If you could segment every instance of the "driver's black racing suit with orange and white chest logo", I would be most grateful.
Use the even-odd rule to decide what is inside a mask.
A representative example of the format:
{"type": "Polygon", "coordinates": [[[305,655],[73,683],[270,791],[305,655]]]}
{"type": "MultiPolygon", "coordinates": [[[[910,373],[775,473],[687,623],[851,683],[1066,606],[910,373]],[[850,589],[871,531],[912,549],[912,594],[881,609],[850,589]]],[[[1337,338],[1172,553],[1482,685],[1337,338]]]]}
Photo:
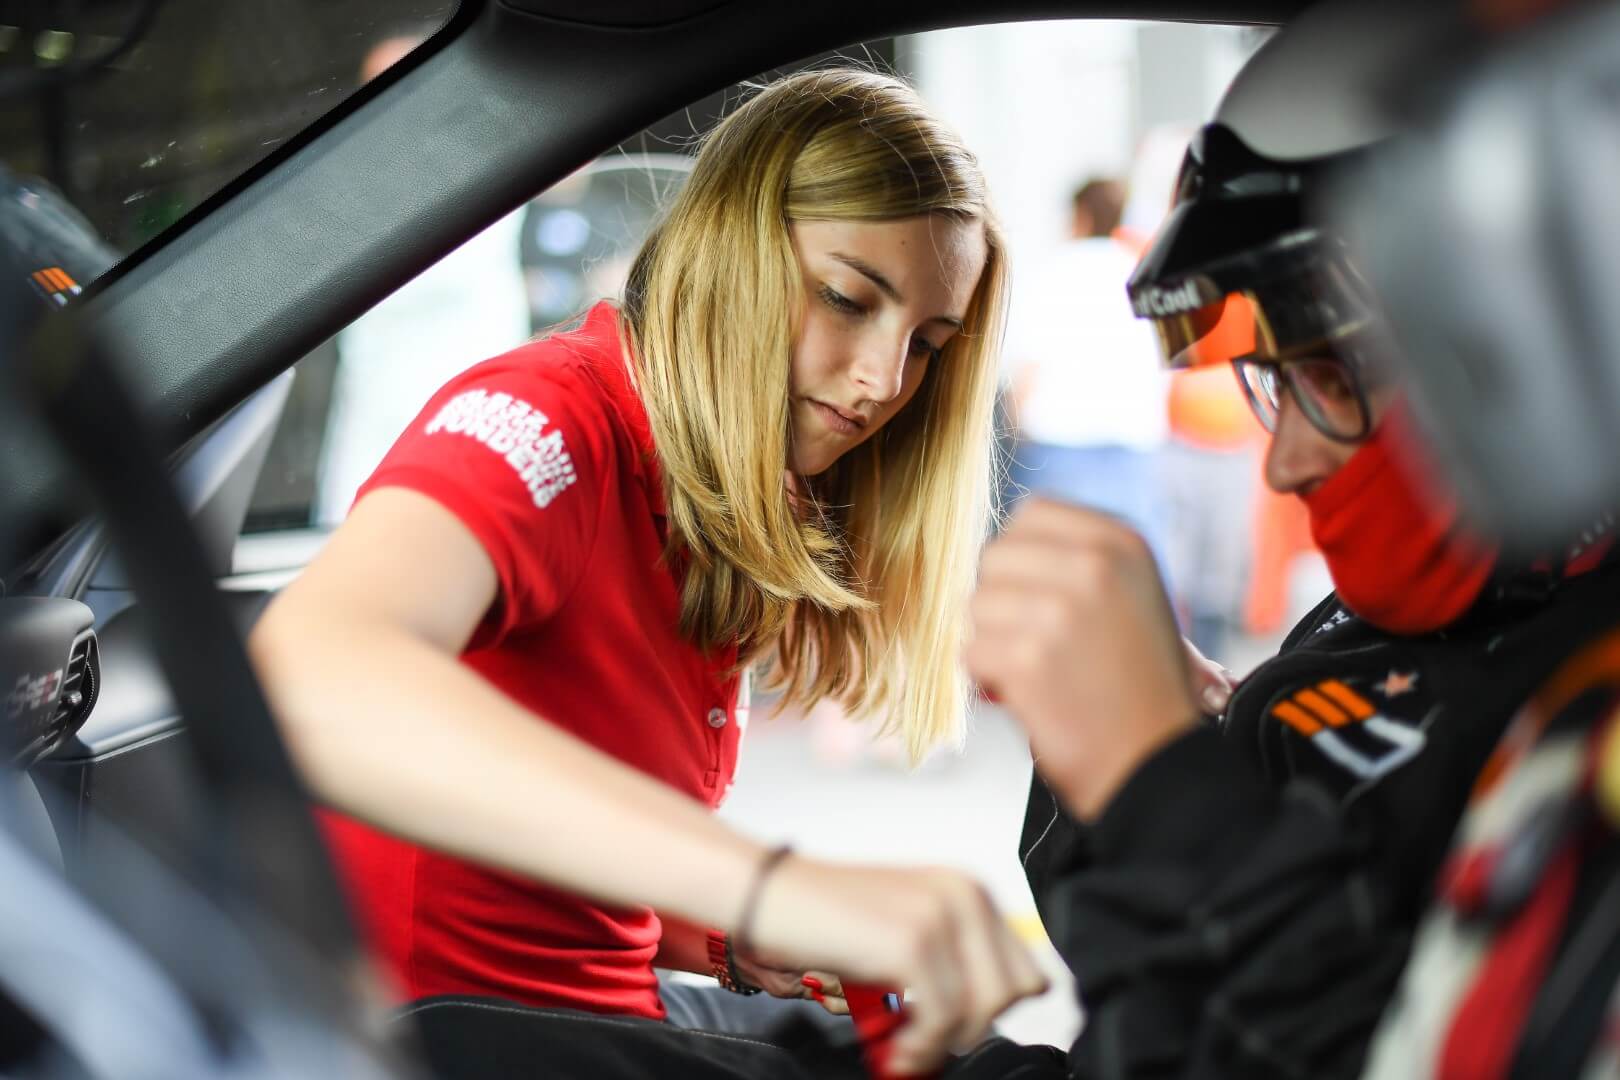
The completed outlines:
{"type": "Polygon", "coordinates": [[[1090,826],[1035,779],[1021,855],[1087,1014],[1071,1075],[1359,1074],[1476,774],[1620,612],[1612,559],[1524,581],[1411,638],[1330,596],[1090,826]]]}

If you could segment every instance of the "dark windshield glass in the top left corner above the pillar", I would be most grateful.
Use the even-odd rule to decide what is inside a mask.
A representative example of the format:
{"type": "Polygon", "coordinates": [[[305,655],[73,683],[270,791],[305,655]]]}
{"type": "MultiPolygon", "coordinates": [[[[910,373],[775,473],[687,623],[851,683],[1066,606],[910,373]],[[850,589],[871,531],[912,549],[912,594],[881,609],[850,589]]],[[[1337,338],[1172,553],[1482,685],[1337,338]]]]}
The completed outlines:
{"type": "Polygon", "coordinates": [[[0,0],[0,232],[71,290],[442,28],[455,0],[0,0]]]}

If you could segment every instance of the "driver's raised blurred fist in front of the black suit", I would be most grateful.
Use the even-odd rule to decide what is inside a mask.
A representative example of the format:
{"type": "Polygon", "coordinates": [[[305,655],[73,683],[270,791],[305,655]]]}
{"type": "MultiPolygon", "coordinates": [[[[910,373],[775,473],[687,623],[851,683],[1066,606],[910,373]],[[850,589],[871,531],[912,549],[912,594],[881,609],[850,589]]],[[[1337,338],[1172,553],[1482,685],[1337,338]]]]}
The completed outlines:
{"type": "Polygon", "coordinates": [[[1189,649],[1152,552],[1115,517],[1029,499],[985,549],[967,670],[1082,819],[1202,711],[1189,649]]]}

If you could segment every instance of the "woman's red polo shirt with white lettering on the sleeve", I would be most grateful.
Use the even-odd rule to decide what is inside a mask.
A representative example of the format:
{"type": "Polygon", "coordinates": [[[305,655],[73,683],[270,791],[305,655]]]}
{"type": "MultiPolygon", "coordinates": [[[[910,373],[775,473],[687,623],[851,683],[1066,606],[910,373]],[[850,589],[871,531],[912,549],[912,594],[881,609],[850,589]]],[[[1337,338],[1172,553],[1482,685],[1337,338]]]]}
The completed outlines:
{"type": "MultiPolygon", "coordinates": [[[[454,379],[360,497],[377,487],[437,500],[494,563],[499,599],[463,664],[536,724],[721,803],[747,722],[727,674],[737,651],[705,656],[677,630],[651,431],[609,304],[454,379]]],[[[327,834],[373,947],[410,997],[664,1015],[650,908],[599,907],[340,814],[327,814],[327,834]]]]}

